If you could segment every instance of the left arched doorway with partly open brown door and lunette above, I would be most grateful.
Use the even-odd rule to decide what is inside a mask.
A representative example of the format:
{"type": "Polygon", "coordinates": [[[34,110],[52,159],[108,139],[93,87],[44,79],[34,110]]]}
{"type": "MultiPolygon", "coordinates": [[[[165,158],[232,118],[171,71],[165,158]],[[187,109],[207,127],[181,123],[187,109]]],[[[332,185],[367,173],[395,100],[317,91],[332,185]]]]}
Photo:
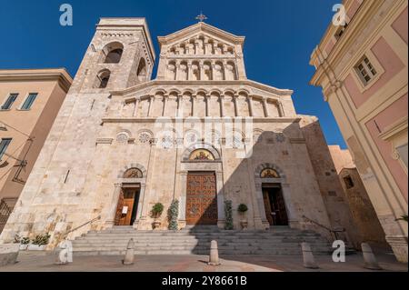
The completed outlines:
{"type": "Polygon", "coordinates": [[[130,168],[125,171],[123,178],[124,182],[116,207],[115,225],[134,225],[138,213],[141,184],[133,181],[143,178],[143,173],[138,168],[130,168]]]}

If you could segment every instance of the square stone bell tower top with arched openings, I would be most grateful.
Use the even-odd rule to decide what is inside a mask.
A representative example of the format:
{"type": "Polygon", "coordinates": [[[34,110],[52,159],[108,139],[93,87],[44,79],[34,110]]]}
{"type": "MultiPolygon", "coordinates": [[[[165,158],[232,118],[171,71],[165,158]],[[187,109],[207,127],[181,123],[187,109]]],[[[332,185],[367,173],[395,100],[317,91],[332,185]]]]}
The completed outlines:
{"type": "Polygon", "coordinates": [[[105,93],[151,80],[155,50],[145,18],[101,18],[72,86],[105,93]]]}

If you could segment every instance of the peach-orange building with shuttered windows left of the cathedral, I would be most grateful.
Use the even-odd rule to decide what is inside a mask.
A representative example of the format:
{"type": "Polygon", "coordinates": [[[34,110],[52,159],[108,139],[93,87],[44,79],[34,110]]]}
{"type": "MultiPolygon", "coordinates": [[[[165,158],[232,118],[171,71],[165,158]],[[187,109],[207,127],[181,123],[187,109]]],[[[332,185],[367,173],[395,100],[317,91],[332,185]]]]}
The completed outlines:
{"type": "Polygon", "coordinates": [[[72,82],[64,68],[0,69],[0,233],[72,82]]]}

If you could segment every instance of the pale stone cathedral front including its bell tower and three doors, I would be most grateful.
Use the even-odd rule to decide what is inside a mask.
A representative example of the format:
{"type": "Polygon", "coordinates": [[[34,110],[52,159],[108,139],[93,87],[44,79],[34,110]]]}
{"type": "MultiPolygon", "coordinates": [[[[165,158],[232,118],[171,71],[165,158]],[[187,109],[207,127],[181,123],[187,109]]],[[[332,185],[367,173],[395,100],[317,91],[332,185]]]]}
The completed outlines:
{"type": "Polygon", "coordinates": [[[166,230],[177,200],[179,228],[224,228],[230,201],[237,229],[341,228],[354,242],[317,119],[295,112],[293,91],[247,79],[244,37],[200,22],[158,41],[152,79],[145,19],[100,20],[0,240],[166,230]]]}

